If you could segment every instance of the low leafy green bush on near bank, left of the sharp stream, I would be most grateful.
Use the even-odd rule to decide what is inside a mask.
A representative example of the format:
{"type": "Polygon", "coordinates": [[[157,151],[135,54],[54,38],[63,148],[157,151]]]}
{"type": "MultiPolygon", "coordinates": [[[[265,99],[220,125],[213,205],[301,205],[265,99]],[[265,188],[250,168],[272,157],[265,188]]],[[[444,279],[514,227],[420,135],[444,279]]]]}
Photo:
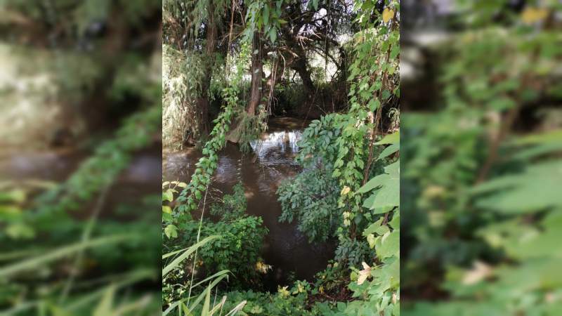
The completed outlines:
{"type": "MultiPolygon", "coordinates": [[[[169,185],[164,184],[166,192],[173,192],[169,185]]],[[[180,184],[180,183],[178,183],[180,184]]],[[[183,183],[181,183],[183,185],[183,183]]],[[[164,197],[168,201],[168,196],[164,197]]],[[[164,206],[167,212],[166,206],[164,206]]],[[[263,228],[263,221],[256,216],[248,216],[246,211],[246,197],[242,185],[235,185],[233,195],[224,195],[220,202],[210,206],[211,215],[218,216],[218,221],[202,219],[200,222],[186,221],[178,225],[176,230],[164,230],[167,237],[177,238],[178,244],[197,244],[198,236],[218,236],[200,246],[197,250],[196,270],[204,270],[205,275],[214,275],[222,270],[228,270],[234,276],[230,279],[230,286],[248,287],[256,285],[259,278],[259,269],[263,265],[259,257],[263,237],[267,228],[263,228]],[[200,267],[200,268],[199,268],[200,267]]],[[[176,249],[169,249],[176,250],[176,249]]],[[[184,264],[187,264],[185,261],[184,264]]],[[[263,265],[264,268],[265,265],[263,265]]],[[[185,269],[189,266],[178,265],[169,272],[163,280],[165,287],[164,302],[169,304],[182,297],[189,289],[189,284],[182,284],[185,269]]]]}

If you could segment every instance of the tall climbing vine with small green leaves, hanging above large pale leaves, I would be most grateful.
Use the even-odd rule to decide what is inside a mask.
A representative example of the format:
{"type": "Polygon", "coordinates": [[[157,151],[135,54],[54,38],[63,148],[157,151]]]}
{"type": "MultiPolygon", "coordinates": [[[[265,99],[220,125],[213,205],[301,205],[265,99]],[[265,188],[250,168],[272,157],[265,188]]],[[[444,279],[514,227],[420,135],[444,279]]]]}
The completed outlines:
{"type": "MultiPolygon", "coordinates": [[[[355,34],[355,59],[350,66],[351,107],[347,117],[341,123],[341,136],[336,141],[339,147],[332,176],[339,179],[341,197],[339,207],[346,209],[344,228],[355,225],[353,220],[362,217],[361,200],[357,190],[365,184],[363,170],[370,169],[374,142],[379,136],[381,110],[389,98],[398,96],[398,81],[393,78],[398,68],[400,32],[397,29],[398,1],[391,1],[377,19],[379,27],[374,27],[367,20],[377,1],[365,1],[355,4],[359,11],[358,21],[364,26],[355,34]],[[383,52],[382,54],[380,52],[383,52]],[[371,65],[371,67],[365,67],[371,65]],[[369,150],[365,150],[368,143],[369,150]]],[[[375,22],[376,23],[376,22],[375,22]]]]}

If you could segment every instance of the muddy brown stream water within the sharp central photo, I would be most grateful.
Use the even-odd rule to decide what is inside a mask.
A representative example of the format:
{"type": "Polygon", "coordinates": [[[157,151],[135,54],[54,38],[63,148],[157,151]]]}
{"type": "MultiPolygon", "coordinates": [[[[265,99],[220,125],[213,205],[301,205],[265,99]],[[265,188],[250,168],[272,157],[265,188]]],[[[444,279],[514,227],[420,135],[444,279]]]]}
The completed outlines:
{"type": "MultiPolygon", "coordinates": [[[[247,197],[247,213],[261,216],[269,230],[261,249],[264,261],[273,265],[266,275],[264,285],[276,290],[277,285],[296,279],[313,279],[316,272],[326,268],[334,257],[334,244],[308,243],[296,228],[296,223],[279,223],[281,205],[276,191],[282,180],[299,173],[294,162],[299,147],[296,143],[306,122],[296,119],[271,119],[261,140],[251,144],[252,151],[242,155],[237,145],[228,145],[218,153],[218,167],[213,175],[207,199],[218,199],[232,193],[239,181],[247,197]]],[[[164,180],[190,180],[195,164],[202,157],[199,150],[188,148],[177,152],[164,152],[164,180]]],[[[253,264],[253,263],[249,263],[253,264]]]]}

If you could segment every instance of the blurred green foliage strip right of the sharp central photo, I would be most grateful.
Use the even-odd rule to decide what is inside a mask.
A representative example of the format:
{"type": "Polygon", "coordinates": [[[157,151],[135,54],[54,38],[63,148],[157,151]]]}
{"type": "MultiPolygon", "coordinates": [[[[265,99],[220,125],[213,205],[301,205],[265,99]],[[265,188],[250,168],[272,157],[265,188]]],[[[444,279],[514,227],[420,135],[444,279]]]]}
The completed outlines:
{"type": "Polygon", "coordinates": [[[562,315],[562,1],[401,1],[403,315],[562,315]]]}

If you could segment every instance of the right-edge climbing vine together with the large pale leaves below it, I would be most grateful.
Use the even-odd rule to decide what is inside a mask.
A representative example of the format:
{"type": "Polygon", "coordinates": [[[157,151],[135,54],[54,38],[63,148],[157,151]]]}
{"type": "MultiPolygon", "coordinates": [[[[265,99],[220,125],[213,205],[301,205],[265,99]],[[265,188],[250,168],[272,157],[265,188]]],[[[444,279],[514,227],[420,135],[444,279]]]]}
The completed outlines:
{"type": "Polygon", "coordinates": [[[336,255],[346,254],[357,260],[361,255],[353,254],[352,249],[361,249],[360,240],[366,240],[376,253],[362,261],[362,270],[352,267],[351,279],[355,281],[349,288],[361,299],[347,305],[347,315],[375,311],[400,314],[400,161],[393,158],[400,136],[396,132],[381,139],[382,107],[400,93],[399,4],[387,1],[384,11],[370,22],[368,17],[376,2],[355,4],[358,22],[364,28],[353,38],[354,60],[348,77],[351,107],[336,141],[339,150],[332,173],[339,179],[338,206],[343,210],[336,255]],[[374,157],[377,152],[378,157],[374,157]],[[383,173],[369,180],[375,162],[387,165],[383,173]],[[363,194],[367,192],[371,194],[365,199],[363,194]]]}

